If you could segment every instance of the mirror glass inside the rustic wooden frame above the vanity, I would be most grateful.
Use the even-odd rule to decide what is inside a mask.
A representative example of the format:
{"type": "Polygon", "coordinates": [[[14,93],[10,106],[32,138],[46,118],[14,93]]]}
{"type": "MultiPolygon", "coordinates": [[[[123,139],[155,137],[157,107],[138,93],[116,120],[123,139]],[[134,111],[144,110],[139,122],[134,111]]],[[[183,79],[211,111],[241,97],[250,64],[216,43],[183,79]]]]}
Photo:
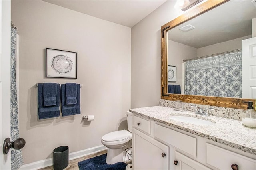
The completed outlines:
{"type": "Polygon", "coordinates": [[[251,1],[226,2],[169,30],[168,93],[255,98],[255,30],[251,1]]]}

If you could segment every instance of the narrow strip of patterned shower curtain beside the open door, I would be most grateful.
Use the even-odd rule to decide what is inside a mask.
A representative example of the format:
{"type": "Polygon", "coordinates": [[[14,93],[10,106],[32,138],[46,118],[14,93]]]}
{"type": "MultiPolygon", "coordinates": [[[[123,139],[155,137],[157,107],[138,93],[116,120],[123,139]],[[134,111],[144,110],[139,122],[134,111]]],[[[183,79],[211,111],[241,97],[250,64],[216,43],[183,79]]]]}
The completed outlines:
{"type": "MultiPolygon", "coordinates": [[[[16,87],[16,36],[17,29],[11,24],[11,141],[19,138],[18,100],[16,87]]],[[[21,150],[11,149],[11,168],[17,170],[23,164],[21,150]]]]}

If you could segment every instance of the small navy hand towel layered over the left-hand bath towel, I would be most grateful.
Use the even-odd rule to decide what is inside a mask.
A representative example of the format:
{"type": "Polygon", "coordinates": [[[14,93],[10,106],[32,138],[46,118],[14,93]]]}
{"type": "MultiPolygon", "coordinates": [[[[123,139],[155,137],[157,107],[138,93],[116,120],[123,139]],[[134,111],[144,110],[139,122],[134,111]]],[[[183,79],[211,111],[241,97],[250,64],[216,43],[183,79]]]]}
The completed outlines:
{"type": "Polygon", "coordinates": [[[57,96],[57,83],[44,83],[44,106],[55,106],[57,96]]]}

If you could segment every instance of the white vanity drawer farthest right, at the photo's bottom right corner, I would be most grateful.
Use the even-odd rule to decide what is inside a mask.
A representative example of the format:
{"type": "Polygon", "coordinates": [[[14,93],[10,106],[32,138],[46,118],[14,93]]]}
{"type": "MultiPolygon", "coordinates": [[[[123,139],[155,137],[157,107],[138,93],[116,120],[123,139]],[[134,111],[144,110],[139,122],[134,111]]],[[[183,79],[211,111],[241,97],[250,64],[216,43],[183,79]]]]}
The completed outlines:
{"type": "Polygon", "coordinates": [[[221,170],[232,170],[236,164],[239,170],[255,170],[256,160],[206,143],[206,163],[221,170]]]}

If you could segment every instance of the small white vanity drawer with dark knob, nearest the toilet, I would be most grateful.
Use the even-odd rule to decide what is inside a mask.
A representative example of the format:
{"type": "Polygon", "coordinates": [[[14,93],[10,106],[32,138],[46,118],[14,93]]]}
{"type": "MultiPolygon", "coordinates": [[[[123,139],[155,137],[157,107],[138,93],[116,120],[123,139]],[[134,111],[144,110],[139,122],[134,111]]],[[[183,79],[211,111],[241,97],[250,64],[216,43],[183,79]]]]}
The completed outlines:
{"type": "Polygon", "coordinates": [[[132,117],[132,126],[147,134],[151,134],[151,122],[141,117],[132,117]]]}

